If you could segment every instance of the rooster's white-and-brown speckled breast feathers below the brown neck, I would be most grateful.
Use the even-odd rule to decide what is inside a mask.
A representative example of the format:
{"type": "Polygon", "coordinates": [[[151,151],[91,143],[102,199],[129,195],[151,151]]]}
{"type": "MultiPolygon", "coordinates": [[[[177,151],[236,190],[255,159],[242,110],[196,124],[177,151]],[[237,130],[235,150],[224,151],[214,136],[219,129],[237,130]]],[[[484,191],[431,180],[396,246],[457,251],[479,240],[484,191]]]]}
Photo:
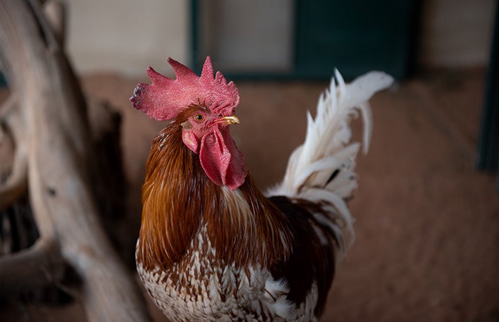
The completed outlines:
{"type": "MultiPolygon", "coordinates": [[[[140,240],[138,241],[138,244],[140,240]]],[[[316,285],[300,305],[287,300],[285,280],[269,270],[236,267],[217,258],[206,226],[170,268],[137,270],[156,306],[171,321],[314,321],[316,285]]]]}

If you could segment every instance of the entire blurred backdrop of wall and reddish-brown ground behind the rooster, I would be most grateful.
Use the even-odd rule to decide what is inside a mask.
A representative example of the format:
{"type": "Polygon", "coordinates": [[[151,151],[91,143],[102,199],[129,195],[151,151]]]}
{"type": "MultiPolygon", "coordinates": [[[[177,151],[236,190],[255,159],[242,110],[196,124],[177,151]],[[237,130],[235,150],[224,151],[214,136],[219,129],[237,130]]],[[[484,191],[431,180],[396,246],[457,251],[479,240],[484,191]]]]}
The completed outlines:
{"type": "MultiPolygon", "coordinates": [[[[242,124],[231,131],[260,188],[282,178],[334,68],[347,80],[377,69],[397,84],[372,99],[372,145],[350,202],[356,244],[322,321],[499,321],[497,1],[65,3],[84,93],[120,114],[126,188],[107,230],[130,271],[145,159],[164,127],[129,104],[147,66],[172,76],[172,57],[199,73],[210,55],[235,80],[242,124]]],[[[78,297],[55,302],[0,301],[0,320],[85,321],[78,297]]]]}

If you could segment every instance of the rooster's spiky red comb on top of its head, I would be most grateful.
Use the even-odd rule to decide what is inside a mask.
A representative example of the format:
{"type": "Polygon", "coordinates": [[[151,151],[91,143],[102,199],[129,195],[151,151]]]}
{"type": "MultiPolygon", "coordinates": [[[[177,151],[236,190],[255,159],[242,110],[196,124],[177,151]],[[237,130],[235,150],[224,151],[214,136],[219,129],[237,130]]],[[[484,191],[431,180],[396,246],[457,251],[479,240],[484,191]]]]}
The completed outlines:
{"type": "Polygon", "coordinates": [[[239,91],[233,82],[228,82],[219,71],[213,77],[210,56],[206,57],[201,76],[187,66],[168,58],[176,79],[172,80],[152,67],[147,75],[152,84],[138,84],[130,101],[136,109],[156,120],[172,120],[190,105],[205,105],[214,114],[234,115],[239,105],[239,91]]]}

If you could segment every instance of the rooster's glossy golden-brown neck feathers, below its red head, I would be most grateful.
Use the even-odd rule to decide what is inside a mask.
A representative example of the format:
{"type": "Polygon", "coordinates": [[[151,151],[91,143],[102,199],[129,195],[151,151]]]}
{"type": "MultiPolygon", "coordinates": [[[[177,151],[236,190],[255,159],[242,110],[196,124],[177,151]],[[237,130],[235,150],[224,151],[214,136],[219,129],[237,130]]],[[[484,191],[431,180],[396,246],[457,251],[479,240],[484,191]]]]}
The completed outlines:
{"type": "Polygon", "coordinates": [[[262,265],[289,256],[287,221],[250,174],[235,190],[214,184],[183,144],[179,122],[152,141],[142,192],[137,261],[145,269],[179,262],[199,231],[226,264],[262,265]],[[206,227],[206,230],[203,229],[206,227]],[[271,245],[272,251],[265,251],[271,245]]]}

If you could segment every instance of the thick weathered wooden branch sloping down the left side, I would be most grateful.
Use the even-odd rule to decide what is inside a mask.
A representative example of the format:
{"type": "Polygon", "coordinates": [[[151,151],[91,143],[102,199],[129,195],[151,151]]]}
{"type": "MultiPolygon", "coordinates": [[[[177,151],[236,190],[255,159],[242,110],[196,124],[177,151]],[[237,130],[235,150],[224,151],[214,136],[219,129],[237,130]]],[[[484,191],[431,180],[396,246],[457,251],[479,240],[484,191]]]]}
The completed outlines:
{"type": "Polygon", "coordinates": [[[0,0],[0,57],[26,134],[17,146],[26,145],[40,233],[34,247],[0,258],[0,287],[8,278],[15,278],[9,287],[40,274],[57,278],[59,253],[82,279],[89,321],[149,321],[136,283],[100,224],[86,105],[51,28],[35,0],[0,0]],[[28,260],[38,267],[6,276],[28,260]]]}

